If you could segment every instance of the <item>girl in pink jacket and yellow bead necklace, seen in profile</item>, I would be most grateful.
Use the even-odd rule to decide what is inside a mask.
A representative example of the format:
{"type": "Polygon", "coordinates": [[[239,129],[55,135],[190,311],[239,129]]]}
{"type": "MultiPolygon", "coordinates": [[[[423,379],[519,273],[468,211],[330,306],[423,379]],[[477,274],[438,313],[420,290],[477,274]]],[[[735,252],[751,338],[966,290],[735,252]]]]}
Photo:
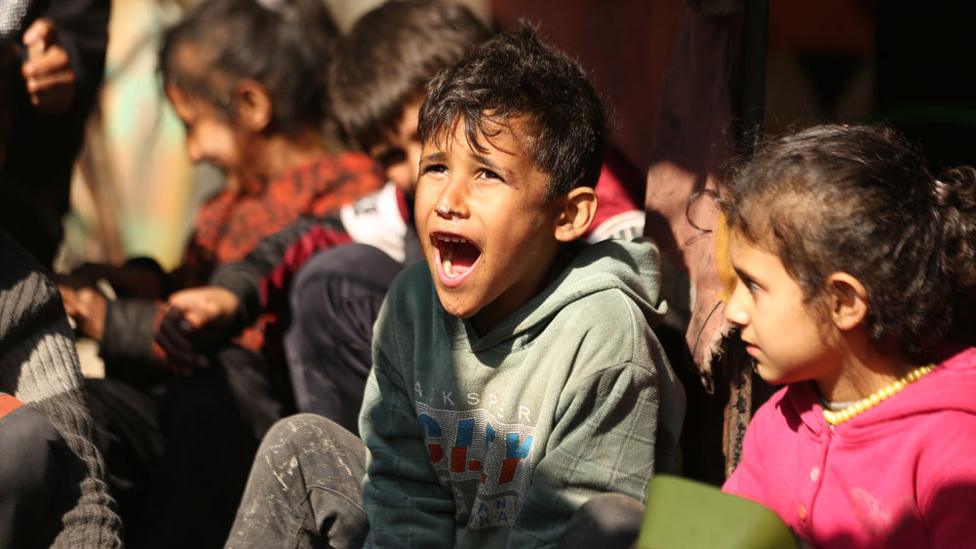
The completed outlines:
{"type": "Polygon", "coordinates": [[[724,489],[817,547],[971,545],[976,172],[936,179],[892,130],[817,126],[764,146],[723,202],[726,318],[786,385],[724,489]]]}

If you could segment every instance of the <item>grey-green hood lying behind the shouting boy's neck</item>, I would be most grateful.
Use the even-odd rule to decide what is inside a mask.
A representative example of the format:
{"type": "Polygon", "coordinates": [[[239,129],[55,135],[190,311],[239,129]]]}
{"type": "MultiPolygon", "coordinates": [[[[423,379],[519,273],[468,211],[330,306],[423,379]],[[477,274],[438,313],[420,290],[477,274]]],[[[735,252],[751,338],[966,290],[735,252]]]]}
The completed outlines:
{"type": "Polygon", "coordinates": [[[491,331],[479,337],[470,322],[464,323],[465,330],[473,351],[488,349],[536,332],[567,305],[610,290],[632,299],[653,327],[667,312],[660,279],[660,254],[648,240],[584,245],[555,280],[491,331]]]}

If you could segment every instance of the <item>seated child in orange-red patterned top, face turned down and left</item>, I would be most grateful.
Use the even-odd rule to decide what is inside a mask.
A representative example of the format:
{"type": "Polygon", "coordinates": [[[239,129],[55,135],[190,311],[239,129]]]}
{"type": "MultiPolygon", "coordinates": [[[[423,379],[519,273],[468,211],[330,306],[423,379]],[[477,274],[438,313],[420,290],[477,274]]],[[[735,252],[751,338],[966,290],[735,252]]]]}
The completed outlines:
{"type": "MultiPolygon", "coordinates": [[[[337,35],[319,0],[208,0],[167,29],[160,72],[185,125],[187,153],[215,164],[228,188],[198,213],[174,271],[86,268],[86,276],[108,279],[125,296],[110,302],[91,287],[63,287],[81,331],[101,341],[110,378],[165,382],[159,416],[166,456],[158,483],[165,493],[146,511],[158,532],[143,534],[155,546],[212,547],[226,538],[258,443],[291,408],[281,319],[263,318],[239,346],[212,348],[210,368],[191,370],[157,343],[173,337],[161,329],[165,298],[206,282],[218,265],[242,259],[299,216],[326,215],[382,184],[366,155],[333,154],[325,145],[337,35]],[[187,375],[159,376],[168,372],[156,365],[187,375]]],[[[116,417],[100,424],[126,425],[116,417]]]]}

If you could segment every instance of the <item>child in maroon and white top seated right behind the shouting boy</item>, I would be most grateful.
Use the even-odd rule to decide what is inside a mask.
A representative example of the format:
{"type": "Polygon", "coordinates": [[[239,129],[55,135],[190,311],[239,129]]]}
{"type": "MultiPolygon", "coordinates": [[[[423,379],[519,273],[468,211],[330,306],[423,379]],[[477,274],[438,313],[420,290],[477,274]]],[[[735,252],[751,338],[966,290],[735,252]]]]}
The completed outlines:
{"type": "MultiPolygon", "coordinates": [[[[357,432],[379,305],[393,277],[420,257],[410,210],[424,85],[487,37],[453,2],[394,0],[361,17],[339,41],[330,97],[347,140],[383,164],[390,183],[334,217],[303,218],[269,237],[219,269],[214,287],[173,296],[191,326],[236,319],[231,332],[262,311],[287,311],[285,350],[300,411],[357,432]]],[[[644,212],[615,170],[604,166],[597,194],[589,241],[640,235],[644,212]]]]}

